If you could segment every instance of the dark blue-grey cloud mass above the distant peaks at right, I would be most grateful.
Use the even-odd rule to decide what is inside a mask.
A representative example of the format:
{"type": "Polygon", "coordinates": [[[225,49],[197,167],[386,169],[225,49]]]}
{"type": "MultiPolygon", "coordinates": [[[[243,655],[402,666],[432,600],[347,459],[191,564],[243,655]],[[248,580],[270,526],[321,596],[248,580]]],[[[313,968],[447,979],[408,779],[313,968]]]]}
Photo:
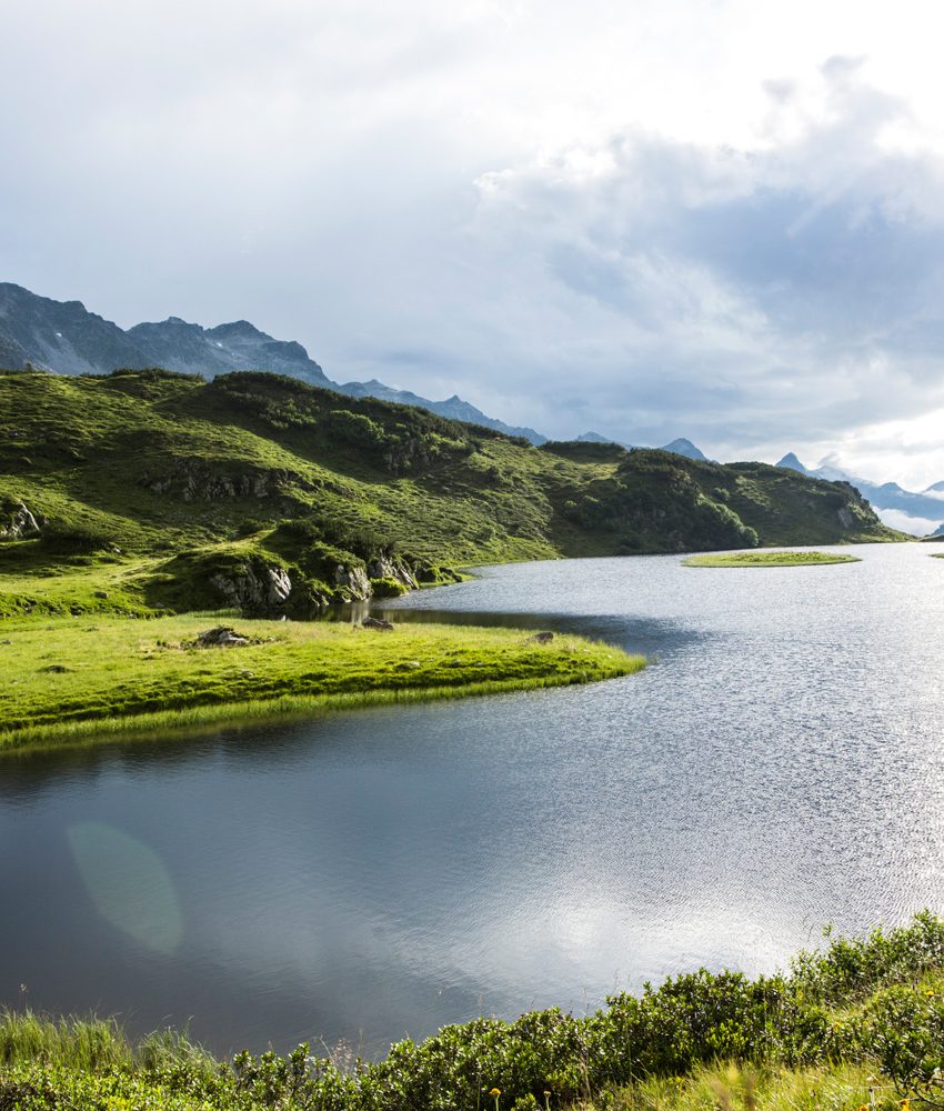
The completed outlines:
{"type": "Polygon", "coordinates": [[[559,329],[550,377],[592,383],[604,431],[681,424],[736,451],[944,399],[942,163],[885,149],[906,110],[857,70],[823,67],[823,111],[787,142],[632,129],[480,178],[502,298],[559,329]]]}

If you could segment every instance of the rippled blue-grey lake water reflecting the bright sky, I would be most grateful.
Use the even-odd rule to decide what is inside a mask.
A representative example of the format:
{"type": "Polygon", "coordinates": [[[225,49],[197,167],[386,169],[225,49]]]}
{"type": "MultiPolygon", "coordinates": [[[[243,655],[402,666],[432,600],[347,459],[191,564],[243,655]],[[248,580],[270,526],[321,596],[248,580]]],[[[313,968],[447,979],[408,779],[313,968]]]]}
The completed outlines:
{"type": "Polygon", "coordinates": [[[944,560],[856,552],[486,569],[403,609],[516,614],[656,662],[3,759],[0,1003],[378,1054],[942,910],[944,560]]]}

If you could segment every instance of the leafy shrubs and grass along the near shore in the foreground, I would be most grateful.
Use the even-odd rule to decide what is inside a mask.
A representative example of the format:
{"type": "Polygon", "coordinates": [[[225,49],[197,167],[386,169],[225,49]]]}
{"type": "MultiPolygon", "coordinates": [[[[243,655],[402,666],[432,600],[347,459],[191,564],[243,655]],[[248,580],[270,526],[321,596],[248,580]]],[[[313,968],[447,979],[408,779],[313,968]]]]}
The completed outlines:
{"type": "Polygon", "coordinates": [[[476,1019],[391,1047],[218,1060],[137,1047],[112,1022],[0,1019],[0,1108],[17,1111],[908,1111],[944,1101],[944,922],[832,940],[785,974],[700,971],[586,1017],[476,1019]],[[904,1101],[904,1102],[903,1102],[904,1101]]]}

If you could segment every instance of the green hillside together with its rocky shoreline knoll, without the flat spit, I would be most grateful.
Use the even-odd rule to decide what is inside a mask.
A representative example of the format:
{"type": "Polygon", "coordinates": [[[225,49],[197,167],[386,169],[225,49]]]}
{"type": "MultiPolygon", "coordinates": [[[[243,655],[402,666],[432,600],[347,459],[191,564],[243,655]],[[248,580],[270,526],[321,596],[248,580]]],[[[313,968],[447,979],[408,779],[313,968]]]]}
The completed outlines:
{"type": "Polygon", "coordinates": [[[535,448],[258,372],[0,374],[0,571],[114,562],[127,605],[290,615],[465,563],[897,536],[846,483],[535,448]]]}

